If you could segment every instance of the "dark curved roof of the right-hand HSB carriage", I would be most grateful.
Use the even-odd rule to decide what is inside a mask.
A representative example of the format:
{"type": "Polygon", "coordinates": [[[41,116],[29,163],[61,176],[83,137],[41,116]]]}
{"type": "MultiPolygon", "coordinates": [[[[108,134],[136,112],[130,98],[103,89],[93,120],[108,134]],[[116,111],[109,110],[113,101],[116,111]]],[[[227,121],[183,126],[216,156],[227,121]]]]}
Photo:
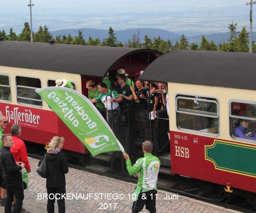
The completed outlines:
{"type": "Polygon", "coordinates": [[[173,51],[154,60],[141,79],[256,90],[256,54],[173,51]]]}

